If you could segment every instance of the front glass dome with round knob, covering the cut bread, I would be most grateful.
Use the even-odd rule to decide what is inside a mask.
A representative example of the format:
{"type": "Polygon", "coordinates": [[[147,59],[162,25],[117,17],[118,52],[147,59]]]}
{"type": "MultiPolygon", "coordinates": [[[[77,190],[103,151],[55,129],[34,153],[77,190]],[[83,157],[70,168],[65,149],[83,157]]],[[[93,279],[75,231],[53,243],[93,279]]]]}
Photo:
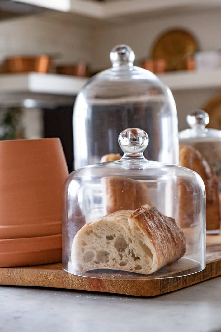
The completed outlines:
{"type": "Polygon", "coordinates": [[[148,135],[119,135],[118,161],[66,180],[63,269],[102,279],[161,279],[205,268],[205,187],[187,169],[144,158],[148,135]]]}

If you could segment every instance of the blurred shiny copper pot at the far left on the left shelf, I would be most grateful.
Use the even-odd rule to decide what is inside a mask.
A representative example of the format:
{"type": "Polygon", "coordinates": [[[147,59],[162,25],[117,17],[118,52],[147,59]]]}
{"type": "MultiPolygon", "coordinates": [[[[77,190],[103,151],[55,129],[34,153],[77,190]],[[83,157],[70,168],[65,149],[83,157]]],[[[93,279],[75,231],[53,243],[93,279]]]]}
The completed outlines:
{"type": "Polygon", "coordinates": [[[13,56],[5,60],[5,72],[26,73],[36,71],[48,73],[51,68],[52,58],[48,55],[39,56],[13,56]]]}

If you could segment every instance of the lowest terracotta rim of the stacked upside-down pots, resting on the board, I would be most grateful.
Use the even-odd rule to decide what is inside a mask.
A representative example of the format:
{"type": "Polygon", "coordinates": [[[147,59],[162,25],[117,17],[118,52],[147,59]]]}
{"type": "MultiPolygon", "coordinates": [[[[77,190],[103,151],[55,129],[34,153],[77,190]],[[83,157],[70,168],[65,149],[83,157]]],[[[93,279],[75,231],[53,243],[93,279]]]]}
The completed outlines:
{"type": "Polygon", "coordinates": [[[0,240],[0,268],[61,261],[61,235],[0,240]]]}

